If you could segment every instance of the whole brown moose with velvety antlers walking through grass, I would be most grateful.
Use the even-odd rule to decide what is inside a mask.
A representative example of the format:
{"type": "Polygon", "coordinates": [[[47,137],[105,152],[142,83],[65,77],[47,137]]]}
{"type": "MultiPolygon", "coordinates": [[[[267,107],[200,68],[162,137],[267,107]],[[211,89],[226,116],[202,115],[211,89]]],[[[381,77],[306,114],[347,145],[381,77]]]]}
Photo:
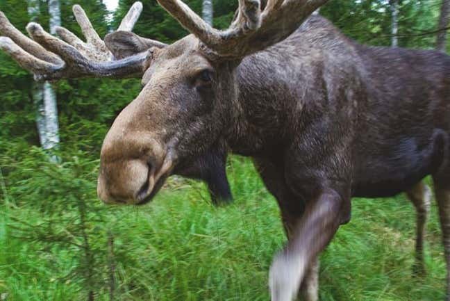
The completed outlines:
{"type": "Polygon", "coordinates": [[[352,197],[406,192],[417,209],[417,270],[433,187],[450,301],[450,57],[367,47],[314,13],[327,0],[239,0],[214,29],[180,0],[158,0],[190,35],[164,44],[131,32],[135,3],[104,40],[80,6],[86,42],[39,24],[31,38],[0,14],[0,47],[37,80],[141,77],[101,148],[97,193],[145,204],[167,177],[208,183],[229,200],[228,152],[251,156],[288,236],[269,271],[273,301],[318,300],[318,257],[351,218],[352,197]]]}

